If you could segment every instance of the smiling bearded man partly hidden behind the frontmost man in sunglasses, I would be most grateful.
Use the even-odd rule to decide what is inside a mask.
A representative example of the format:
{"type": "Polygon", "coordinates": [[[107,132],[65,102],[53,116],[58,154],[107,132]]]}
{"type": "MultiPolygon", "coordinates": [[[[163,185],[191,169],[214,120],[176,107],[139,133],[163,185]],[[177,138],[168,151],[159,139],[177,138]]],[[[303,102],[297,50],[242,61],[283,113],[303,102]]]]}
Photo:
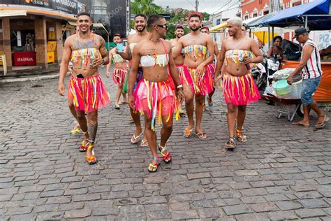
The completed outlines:
{"type": "MultiPolygon", "coordinates": [[[[119,53],[123,59],[131,60],[133,57],[132,52],[135,45],[143,41],[147,38],[148,32],[146,30],[146,22],[147,17],[144,14],[137,14],[135,15],[135,31],[137,31],[135,34],[128,36],[128,45],[126,45],[126,50],[122,53],[119,53]]],[[[117,52],[117,48],[115,49],[115,52],[117,52]]],[[[130,72],[130,71],[129,71],[130,72]]],[[[128,74],[129,74],[128,72],[128,74]]],[[[138,69],[138,77],[136,83],[142,78],[142,68],[138,69]]],[[[134,88],[135,89],[135,88],[134,88]]],[[[140,113],[138,111],[133,110],[133,108],[130,108],[130,113],[133,118],[133,122],[135,123],[135,133],[133,134],[131,138],[131,143],[138,143],[140,136],[144,131],[142,131],[141,124],[140,124],[140,113]]],[[[142,137],[142,141],[140,143],[140,146],[145,147],[148,146],[148,141],[146,138],[146,135],[144,133],[142,137]]]]}

